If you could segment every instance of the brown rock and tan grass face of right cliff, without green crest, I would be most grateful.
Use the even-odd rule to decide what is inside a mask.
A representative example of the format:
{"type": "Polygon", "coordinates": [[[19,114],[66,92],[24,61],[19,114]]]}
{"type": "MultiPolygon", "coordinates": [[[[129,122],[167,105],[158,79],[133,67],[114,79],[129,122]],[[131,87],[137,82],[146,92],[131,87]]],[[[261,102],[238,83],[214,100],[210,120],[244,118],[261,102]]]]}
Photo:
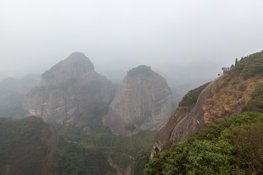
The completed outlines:
{"type": "Polygon", "coordinates": [[[155,147],[159,150],[169,142],[176,144],[191,134],[201,131],[206,124],[218,119],[229,118],[234,113],[240,114],[250,99],[255,86],[263,83],[263,77],[242,79],[235,77],[226,81],[226,75],[211,82],[199,95],[196,104],[189,113],[176,109],[166,126],[157,134],[151,157],[155,147]],[[244,87],[244,88],[242,88],[244,87]]]}

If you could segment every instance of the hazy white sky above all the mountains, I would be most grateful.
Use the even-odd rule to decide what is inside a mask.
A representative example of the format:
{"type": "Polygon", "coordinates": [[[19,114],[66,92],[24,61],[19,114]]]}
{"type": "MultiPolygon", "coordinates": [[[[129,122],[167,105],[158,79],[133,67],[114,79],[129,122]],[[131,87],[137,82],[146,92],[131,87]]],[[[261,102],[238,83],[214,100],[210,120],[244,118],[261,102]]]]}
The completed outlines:
{"type": "Polygon", "coordinates": [[[0,73],[42,73],[73,52],[95,70],[198,58],[230,66],[263,50],[262,8],[263,0],[0,0],[0,73]]]}

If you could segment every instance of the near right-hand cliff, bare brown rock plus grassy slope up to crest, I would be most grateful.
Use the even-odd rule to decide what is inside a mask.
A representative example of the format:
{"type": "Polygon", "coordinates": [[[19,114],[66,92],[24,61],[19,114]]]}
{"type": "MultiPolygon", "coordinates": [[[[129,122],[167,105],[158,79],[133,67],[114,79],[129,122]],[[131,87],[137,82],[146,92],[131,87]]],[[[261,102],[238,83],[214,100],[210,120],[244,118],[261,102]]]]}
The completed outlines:
{"type": "Polygon", "coordinates": [[[256,104],[250,100],[256,98],[253,97],[253,90],[263,86],[262,58],[263,52],[242,58],[227,75],[211,82],[200,93],[193,107],[179,106],[157,134],[151,157],[155,147],[161,150],[166,143],[178,143],[204,129],[206,124],[228,118],[234,113],[240,114],[247,104],[256,104]]]}

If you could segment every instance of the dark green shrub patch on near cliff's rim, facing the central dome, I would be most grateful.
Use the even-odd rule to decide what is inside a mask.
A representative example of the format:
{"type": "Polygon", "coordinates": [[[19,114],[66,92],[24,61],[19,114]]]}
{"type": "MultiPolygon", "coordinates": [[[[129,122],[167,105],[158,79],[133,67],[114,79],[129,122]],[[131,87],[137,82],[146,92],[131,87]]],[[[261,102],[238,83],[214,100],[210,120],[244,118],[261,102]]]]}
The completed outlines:
{"type": "Polygon", "coordinates": [[[198,88],[195,88],[193,90],[190,90],[184,97],[183,99],[181,100],[181,102],[179,103],[179,106],[188,106],[190,108],[192,108],[196,102],[197,102],[197,99],[198,99],[198,96],[200,95],[200,93],[205,89],[207,88],[207,86],[209,85],[209,83],[211,82],[208,82],[198,88]]]}

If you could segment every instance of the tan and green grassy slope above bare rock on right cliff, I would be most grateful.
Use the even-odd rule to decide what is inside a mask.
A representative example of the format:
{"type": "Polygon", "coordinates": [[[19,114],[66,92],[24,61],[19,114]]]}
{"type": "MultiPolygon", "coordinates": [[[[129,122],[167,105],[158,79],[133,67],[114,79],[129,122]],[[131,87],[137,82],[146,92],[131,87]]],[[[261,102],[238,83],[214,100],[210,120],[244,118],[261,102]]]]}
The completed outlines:
{"type": "Polygon", "coordinates": [[[242,58],[238,64],[220,77],[212,88],[212,96],[203,106],[204,120],[211,123],[214,118],[241,113],[256,86],[263,83],[263,52],[242,58]]]}

